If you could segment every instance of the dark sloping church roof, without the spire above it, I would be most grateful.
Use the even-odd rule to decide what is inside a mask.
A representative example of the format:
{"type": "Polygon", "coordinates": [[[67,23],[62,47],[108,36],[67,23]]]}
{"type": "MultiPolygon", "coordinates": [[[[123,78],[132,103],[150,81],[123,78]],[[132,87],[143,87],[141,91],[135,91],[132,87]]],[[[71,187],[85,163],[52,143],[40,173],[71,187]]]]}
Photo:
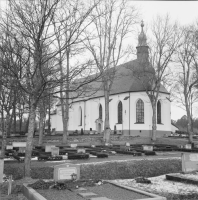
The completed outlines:
{"type": "MultiPolygon", "coordinates": [[[[126,92],[143,92],[145,91],[145,81],[147,77],[141,77],[140,79],[134,76],[134,72],[141,69],[138,60],[132,60],[110,70],[115,72],[110,95],[126,93],[126,92]]],[[[147,71],[153,73],[153,68],[147,66],[147,71]]],[[[81,97],[74,99],[74,101],[86,100],[90,98],[103,97],[104,90],[102,87],[102,78],[97,81],[91,82],[87,85],[86,93],[81,97]]],[[[148,89],[148,88],[147,88],[148,89]]],[[[160,92],[168,93],[163,85],[160,86],[160,92]]],[[[75,96],[75,95],[74,95],[75,96]]]]}

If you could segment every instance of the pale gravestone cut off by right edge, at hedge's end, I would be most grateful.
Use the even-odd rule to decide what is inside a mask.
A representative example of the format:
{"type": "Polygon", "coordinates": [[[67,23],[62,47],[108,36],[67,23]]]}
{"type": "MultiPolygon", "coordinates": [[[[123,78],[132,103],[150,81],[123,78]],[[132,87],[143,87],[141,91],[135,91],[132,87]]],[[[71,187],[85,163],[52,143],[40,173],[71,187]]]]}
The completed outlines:
{"type": "Polygon", "coordinates": [[[182,153],[182,172],[198,171],[198,153],[182,153]]]}

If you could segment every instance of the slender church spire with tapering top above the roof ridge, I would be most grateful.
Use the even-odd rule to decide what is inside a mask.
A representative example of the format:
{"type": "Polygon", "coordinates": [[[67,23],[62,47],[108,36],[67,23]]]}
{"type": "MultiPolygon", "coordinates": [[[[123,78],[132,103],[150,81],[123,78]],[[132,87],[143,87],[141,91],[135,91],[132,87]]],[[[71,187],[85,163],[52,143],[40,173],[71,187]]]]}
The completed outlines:
{"type": "Polygon", "coordinates": [[[138,46],[136,47],[137,49],[137,60],[139,62],[148,62],[148,58],[149,58],[149,52],[148,52],[148,45],[147,45],[147,38],[146,38],[146,34],[144,33],[144,22],[142,21],[141,23],[141,33],[138,37],[138,46]]]}

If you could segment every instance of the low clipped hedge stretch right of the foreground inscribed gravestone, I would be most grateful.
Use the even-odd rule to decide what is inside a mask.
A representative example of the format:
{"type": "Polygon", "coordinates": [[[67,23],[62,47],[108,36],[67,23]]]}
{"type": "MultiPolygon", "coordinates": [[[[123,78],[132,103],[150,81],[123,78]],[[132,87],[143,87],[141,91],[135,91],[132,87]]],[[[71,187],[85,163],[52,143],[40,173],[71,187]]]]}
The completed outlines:
{"type": "Polygon", "coordinates": [[[129,179],[154,177],[181,171],[181,160],[139,160],[81,165],[84,179],[129,179]]]}

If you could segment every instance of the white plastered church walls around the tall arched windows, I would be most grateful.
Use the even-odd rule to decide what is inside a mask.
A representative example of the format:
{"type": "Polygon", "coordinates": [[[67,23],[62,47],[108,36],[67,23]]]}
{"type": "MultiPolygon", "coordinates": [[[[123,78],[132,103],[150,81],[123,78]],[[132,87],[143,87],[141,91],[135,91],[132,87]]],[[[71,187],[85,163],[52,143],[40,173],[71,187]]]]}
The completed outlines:
{"type": "MultiPolygon", "coordinates": [[[[157,125],[158,135],[164,135],[164,131],[171,132],[171,119],[170,119],[170,102],[166,99],[169,97],[167,94],[161,94],[159,99],[161,100],[161,116],[162,124],[157,125]]],[[[145,92],[131,92],[123,93],[118,95],[111,95],[112,99],[109,103],[110,108],[110,128],[116,131],[118,134],[133,135],[133,136],[151,136],[152,129],[152,108],[145,92]],[[130,98],[128,98],[130,97],[130,98]],[[124,98],[127,98],[124,100],[124,98]],[[144,123],[136,123],[136,103],[141,98],[144,102],[144,123]],[[123,106],[123,123],[118,124],[118,103],[122,102],[123,106]],[[130,106],[129,106],[130,102],[130,106]],[[130,109],[129,109],[130,107],[130,109]],[[130,114],[130,116],[129,116],[130,114]],[[129,124],[130,121],[130,124],[129,124]],[[130,130],[130,131],[129,131],[130,130]]],[[[69,130],[71,132],[81,128],[84,131],[96,131],[96,120],[99,118],[99,105],[102,105],[102,131],[104,130],[105,120],[105,101],[104,97],[90,99],[87,101],[74,102],[70,108],[69,116],[69,130]],[[80,112],[79,108],[82,109],[82,124],[80,124],[80,112]]],[[[58,112],[56,115],[52,115],[52,128],[56,128],[56,131],[62,131],[62,116],[60,106],[58,106],[58,112]]]]}

